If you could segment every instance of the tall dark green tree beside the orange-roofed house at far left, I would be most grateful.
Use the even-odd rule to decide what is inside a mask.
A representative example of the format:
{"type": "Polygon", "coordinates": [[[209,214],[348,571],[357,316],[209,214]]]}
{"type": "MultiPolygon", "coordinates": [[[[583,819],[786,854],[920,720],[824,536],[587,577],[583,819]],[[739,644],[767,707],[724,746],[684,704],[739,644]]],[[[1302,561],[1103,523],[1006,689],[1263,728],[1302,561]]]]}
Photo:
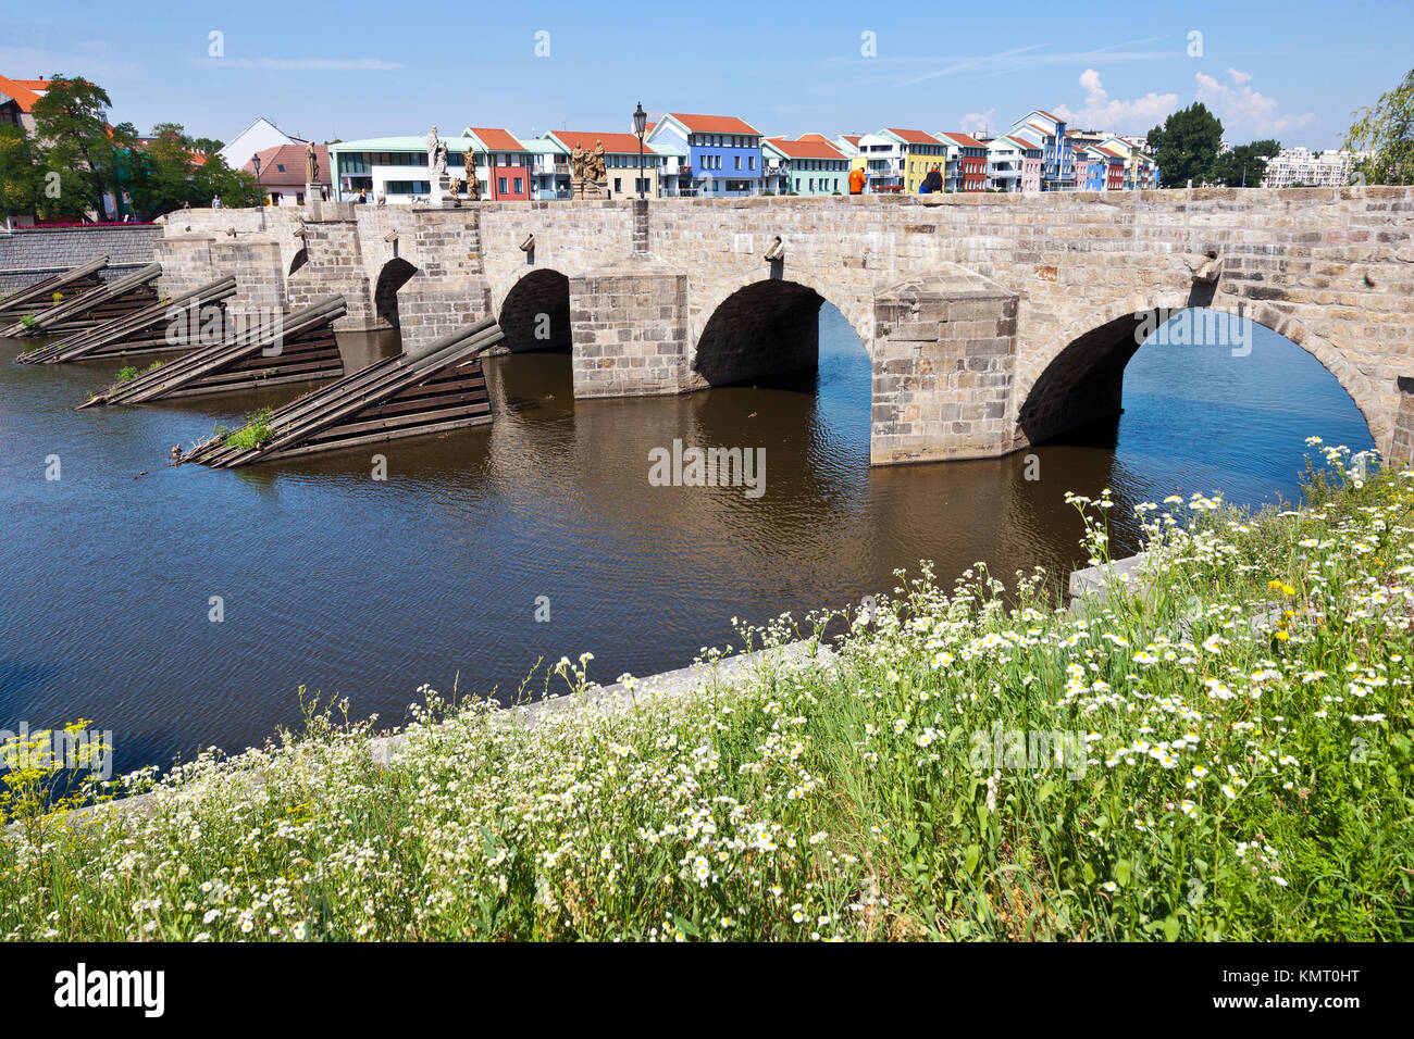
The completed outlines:
{"type": "Polygon", "coordinates": [[[103,192],[119,196],[119,153],[136,140],[109,127],[110,105],[102,86],[62,75],[51,76],[44,96],[35,102],[35,137],[62,188],[54,201],[55,215],[79,216],[92,208],[102,216],[103,192]]]}

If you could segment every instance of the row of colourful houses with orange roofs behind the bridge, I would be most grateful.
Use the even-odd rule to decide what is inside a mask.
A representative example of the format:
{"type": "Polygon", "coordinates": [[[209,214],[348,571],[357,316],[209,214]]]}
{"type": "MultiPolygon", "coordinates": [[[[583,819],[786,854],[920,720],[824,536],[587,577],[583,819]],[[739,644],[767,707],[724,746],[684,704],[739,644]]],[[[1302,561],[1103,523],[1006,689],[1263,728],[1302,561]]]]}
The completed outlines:
{"type": "MultiPolygon", "coordinates": [[[[467,127],[447,139],[455,172],[471,153],[488,199],[570,196],[574,148],[604,147],[611,198],[844,195],[860,170],[870,194],[918,192],[936,171],[943,191],[1124,191],[1158,187],[1158,165],[1138,139],[1070,130],[1036,109],[1003,136],[884,127],[834,139],[769,137],[744,119],[669,112],[642,141],[617,130],[551,130],[525,139],[496,127],[467,127]]],[[[389,202],[430,196],[421,136],[328,146],[334,191],[342,199],[389,202]]]]}

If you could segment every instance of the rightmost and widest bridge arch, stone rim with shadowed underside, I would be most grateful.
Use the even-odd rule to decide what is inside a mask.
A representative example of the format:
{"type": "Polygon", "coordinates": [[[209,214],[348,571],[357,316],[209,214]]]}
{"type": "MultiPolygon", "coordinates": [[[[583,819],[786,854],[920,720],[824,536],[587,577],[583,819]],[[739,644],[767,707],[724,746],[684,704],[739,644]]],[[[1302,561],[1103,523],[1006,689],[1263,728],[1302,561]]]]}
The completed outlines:
{"type": "Polygon", "coordinates": [[[1124,368],[1138,351],[1137,332],[1152,329],[1184,310],[1206,308],[1244,318],[1281,335],[1311,353],[1350,394],[1370,428],[1370,437],[1387,452],[1394,434],[1380,392],[1346,355],[1301,321],[1260,300],[1229,293],[1109,304],[1089,318],[1041,339],[1039,349],[1025,351],[1015,382],[1017,447],[1056,437],[1120,411],[1124,368]]]}

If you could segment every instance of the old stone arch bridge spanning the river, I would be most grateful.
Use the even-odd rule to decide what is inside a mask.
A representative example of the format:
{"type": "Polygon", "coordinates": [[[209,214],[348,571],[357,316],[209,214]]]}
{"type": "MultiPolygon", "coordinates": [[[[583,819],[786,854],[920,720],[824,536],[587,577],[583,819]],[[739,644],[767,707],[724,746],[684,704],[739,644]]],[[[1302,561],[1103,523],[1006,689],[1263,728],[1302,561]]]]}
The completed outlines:
{"type": "Polygon", "coordinates": [[[327,202],[173,213],[156,252],[167,291],[235,273],[246,307],[344,293],[342,327],[399,327],[404,348],[496,315],[509,349],[573,349],[577,397],[810,366],[829,301],[872,362],[875,464],[1111,418],[1144,334],[1208,307],[1315,355],[1408,458],[1411,218],[1414,188],[1379,187],[327,202]]]}

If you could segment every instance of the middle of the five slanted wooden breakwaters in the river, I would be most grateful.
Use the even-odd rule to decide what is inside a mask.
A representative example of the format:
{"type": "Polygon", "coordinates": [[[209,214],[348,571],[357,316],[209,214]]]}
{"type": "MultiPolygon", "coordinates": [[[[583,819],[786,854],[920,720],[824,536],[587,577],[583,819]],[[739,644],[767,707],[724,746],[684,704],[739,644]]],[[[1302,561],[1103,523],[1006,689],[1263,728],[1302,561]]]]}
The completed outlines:
{"type": "MultiPolygon", "coordinates": [[[[226,327],[226,300],[236,294],[233,277],[218,278],[201,288],[133,311],[126,317],[75,332],[66,339],[27,351],[16,358],[21,365],[61,365],[89,358],[110,358],[127,353],[156,353],[157,351],[188,349],[201,341],[209,319],[226,327]],[[173,335],[173,311],[181,335],[173,335]]],[[[221,334],[225,338],[225,332],[221,334]]]]}

